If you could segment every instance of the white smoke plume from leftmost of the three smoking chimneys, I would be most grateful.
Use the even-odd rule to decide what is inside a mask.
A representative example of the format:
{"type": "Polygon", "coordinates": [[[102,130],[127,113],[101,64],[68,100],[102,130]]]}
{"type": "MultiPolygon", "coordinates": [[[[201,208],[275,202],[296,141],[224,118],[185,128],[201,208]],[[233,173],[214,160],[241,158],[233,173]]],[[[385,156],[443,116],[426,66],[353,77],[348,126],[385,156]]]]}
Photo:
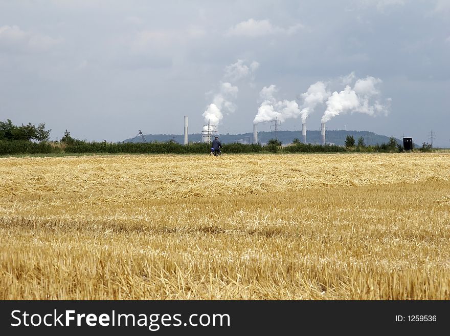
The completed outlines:
{"type": "Polygon", "coordinates": [[[258,113],[253,120],[253,123],[272,121],[277,118],[283,122],[286,119],[297,118],[300,115],[300,109],[295,100],[280,100],[275,99],[274,94],[278,92],[275,85],[262,88],[259,96],[262,103],[258,108],[258,113]]]}

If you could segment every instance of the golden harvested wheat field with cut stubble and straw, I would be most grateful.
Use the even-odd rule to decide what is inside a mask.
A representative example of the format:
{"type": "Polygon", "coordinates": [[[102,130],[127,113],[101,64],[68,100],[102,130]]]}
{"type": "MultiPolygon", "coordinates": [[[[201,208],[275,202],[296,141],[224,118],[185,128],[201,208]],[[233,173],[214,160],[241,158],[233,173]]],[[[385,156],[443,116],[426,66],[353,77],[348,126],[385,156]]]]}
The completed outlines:
{"type": "Polygon", "coordinates": [[[0,299],[450,299],[450,154],[0,158],[0,299]]]}

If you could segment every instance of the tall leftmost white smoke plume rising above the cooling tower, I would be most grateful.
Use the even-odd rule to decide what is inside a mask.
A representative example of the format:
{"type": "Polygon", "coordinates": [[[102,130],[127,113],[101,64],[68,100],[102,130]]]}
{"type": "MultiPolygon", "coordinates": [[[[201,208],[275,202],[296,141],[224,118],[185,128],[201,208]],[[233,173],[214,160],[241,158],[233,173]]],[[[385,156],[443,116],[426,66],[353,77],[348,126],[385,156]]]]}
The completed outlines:
{"type": "Polygon", "coordinates": [[[242,59],[238,59],[236,63],[227,66],[224,70],[223,80],[219,84],[219,90],[214,94],[212,103],[208,105],[202,116],[205,122],[210,121],[213,125],[218,125],[222,119],[223,114],[234,113],[236,111],[236,104],[233,100],[237,98],[238,87],[231,82],[239,81],[246,77],[251,77],[253,80],[254,72],[258,69],[259,63],[253,61],[250,65],[245,65],[242,59]]]}

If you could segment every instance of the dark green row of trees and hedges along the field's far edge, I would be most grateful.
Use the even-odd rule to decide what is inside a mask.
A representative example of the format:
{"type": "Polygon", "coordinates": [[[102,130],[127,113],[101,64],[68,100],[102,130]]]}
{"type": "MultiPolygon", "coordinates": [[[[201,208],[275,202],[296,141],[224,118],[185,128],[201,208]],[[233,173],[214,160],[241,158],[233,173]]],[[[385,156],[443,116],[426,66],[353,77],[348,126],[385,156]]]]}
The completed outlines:
{"type": "MultiPolygon", "coordinates": [[[[209,143],[189,143],[187,145],[168,141],[136,142],[97,142],[73,138],[65,130],[59,141],[50,141],[51,130],[45,129],[45,123],[35,125],[28,123],[20,126],[11,120],[0,121],[0,155],[14,154],[50,154],[50,153],[152,153],[152,154],[206,154],[210,152],[209,143]]],[[[345,146],[330,144],[302,143],[295,138],[292,143],[282,145],[277,138],[269,139],[266,144],[244,144],[239,142],[224,144],[225,153],[343,153],[343,152],[403,152],[403,146],[394,137],[388,143],[367,146],[361,137],[355,143],[353,136],[348,135],[345,146]]],[[[422,149],[419,149],[422,150],[422,149]]],[[[423,147],[423,150],[431,150],[423,147]]]]}

